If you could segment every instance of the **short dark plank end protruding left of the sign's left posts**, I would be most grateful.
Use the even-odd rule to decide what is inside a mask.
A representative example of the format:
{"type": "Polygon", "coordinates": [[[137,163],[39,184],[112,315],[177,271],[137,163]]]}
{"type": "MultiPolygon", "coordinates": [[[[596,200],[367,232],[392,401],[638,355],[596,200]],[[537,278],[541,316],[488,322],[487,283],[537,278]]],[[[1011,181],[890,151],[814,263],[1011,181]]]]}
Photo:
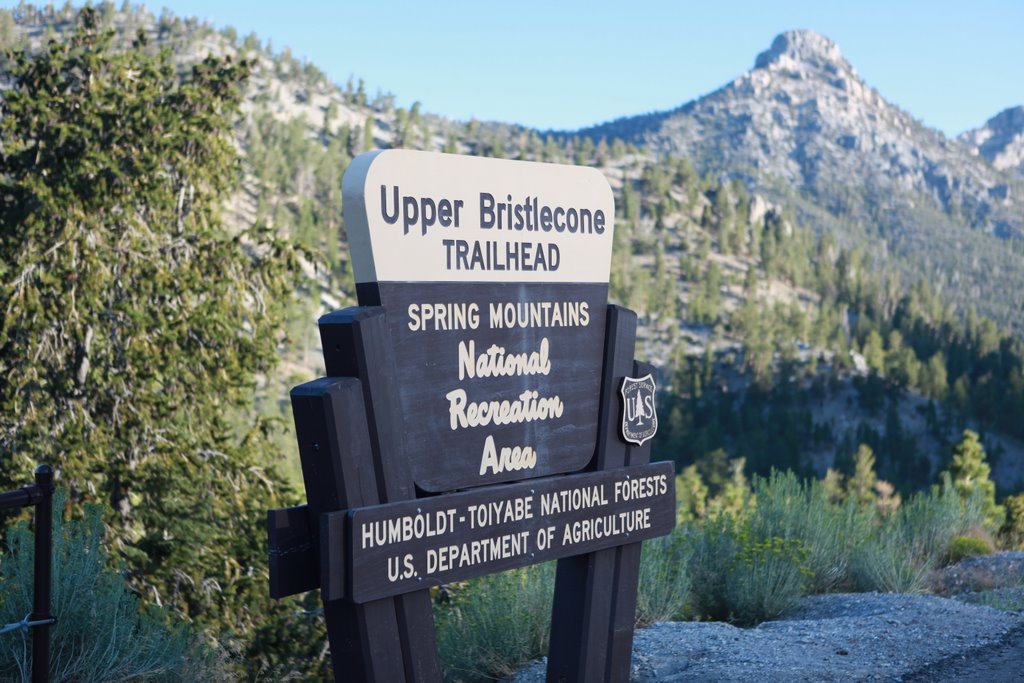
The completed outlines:
{"type": "Polygon", "coordinates": [[[306,506],[267,510],[266,529],[270,597],[280,599],[314,590],[319,577],[306,506]]]}

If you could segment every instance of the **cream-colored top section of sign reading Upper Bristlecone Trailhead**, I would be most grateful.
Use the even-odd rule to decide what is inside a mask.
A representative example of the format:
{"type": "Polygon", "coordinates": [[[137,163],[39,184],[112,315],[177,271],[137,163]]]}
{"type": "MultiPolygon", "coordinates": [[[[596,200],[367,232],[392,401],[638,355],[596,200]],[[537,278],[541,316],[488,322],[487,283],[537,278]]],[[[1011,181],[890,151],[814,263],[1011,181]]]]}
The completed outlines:
{"type": "Polygon", "coordinates": [[[607,283],[614,203],[592,168],[409,150],[342,184],[357,283],[607,283]]]}

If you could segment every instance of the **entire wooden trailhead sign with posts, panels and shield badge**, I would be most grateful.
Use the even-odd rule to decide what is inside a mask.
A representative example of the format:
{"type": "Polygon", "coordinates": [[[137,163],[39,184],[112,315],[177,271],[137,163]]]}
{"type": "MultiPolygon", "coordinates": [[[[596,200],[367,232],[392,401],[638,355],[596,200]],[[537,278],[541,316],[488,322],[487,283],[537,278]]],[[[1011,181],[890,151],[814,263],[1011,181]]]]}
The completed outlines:
{"type": "Polygon", "coordinates": [[[440,681],[430,588],[558,560],[549,681],[627,681],[654,369],[607,303],[594,169],[409,151],[343,181],[358,307],[292,390],[307,504],[268,514],[270,594],[321,589],[336,681],[440,681]]]}

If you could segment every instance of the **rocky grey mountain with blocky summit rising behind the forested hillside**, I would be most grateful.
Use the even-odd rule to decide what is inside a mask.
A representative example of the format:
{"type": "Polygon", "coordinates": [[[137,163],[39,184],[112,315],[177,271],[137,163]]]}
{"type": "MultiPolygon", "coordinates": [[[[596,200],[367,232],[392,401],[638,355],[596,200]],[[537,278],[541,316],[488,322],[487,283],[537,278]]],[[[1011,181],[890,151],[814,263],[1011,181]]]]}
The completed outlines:
{"type": "MultiPolygon", "coordinates": [[[[1024,183],[1000,170],[1013,153],[1000,152],[997,168],[927,128],[819,34],[778,36],[753,70],[677,110],[580,134],[621,137],[687,157],[701,173],[743,178],[907,281],[942,287],[962,309],[976,302],[1015,329],[1024,323],[1020,300],[1008,301],[1024,288],[1024,183]]],[[[990,148],[1007,134],[990,135],[990,148]]]]}

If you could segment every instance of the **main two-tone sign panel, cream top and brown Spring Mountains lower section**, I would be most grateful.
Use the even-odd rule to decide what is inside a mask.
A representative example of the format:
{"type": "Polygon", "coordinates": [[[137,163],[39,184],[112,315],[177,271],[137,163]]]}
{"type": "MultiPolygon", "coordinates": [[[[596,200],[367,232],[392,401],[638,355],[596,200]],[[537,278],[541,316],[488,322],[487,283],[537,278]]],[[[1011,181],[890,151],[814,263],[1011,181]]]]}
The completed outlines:
{"type": "Polygon", "coordinates": [[[614,205],[595,169],[403,150],[345,174],[423,490],[579,471],[597,442],[614,205]]]}

